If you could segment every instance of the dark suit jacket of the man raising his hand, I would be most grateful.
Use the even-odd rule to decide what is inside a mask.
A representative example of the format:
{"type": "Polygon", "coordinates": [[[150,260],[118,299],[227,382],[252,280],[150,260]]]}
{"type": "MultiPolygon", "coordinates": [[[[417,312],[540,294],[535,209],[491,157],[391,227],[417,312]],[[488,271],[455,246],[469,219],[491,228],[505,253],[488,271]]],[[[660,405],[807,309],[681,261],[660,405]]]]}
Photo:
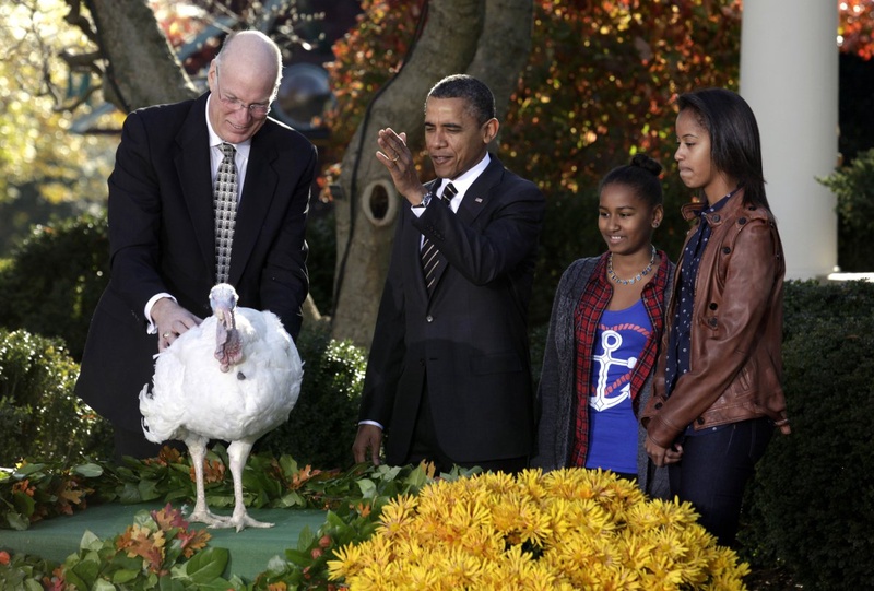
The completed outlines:
{"type": "Polygon", "coordinates": [[[425,380],[440,448],[452,460],[530,453],[527,317],[544,205],[534,184],[493,155],[457,214],[439,199],[421,217],[402,208],[359,415],[386,428],[390,464],[406,458],[425,380]],[[448,261],[430,299],[423,234],[448,261]]]}

